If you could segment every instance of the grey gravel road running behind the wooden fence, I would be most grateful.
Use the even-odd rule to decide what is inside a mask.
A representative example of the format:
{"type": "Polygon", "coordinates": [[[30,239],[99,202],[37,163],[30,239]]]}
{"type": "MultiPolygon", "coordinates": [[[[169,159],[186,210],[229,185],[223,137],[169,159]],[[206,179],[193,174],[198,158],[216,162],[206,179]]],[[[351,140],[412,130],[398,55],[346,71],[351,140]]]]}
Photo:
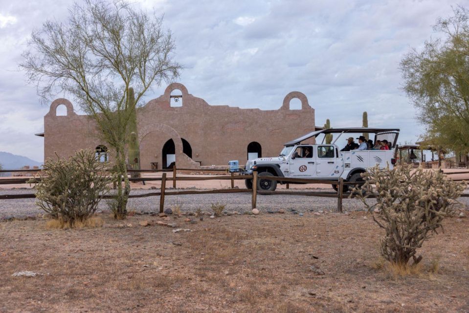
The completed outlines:
{"type": "MultiPolygon", "coordinates": [[[[168,189],[169,190],[169,189],[168,189]]],[[[178,189],[183,190],[183,189],[178,189]]],[[[144,194],[152,192],[153,190],[133,190],[132,194],[144,194]]],[[[329,190],[327,190],[329,191],[329,190]]],[[[28,194],[31,189],[2,189],[0,195],[3,194],[28,194]]],[[[374,201],[370,199],[369,201],[374,201]]],[[[461,198],[460,201],[469,205],[469,198],[461,198]]],[[[42,213],[34,204],[34,199],[12,199],[0,201],[0,218],[14,215],[30,215],[42,213]]],[[[226,205],[226,210],[229,212],[238,211],[240,213],[249,211],[251,209],[251,194],[249,193],[233,193],[233,194],[205,194],[205,195],[178,195],[166,196],[165,208],[171,207],[174,204],[182,204],[183,212],[194,212],[198,208],[202,211],[209,212],[210,204],[219,202],[226,205]]],[[[360,211],[364,209],[361,201],[356,199],[344,199],[342,202],[344,211],[360,211]]],[[[158,211],[159,209],[159,196],[147,198],[129,199],[129,210],[150,212],[158,211]]],[[[329,211],[335,212],[337,208],[337,199],[323,198],[323,197],[307,197],[307,196],[287,196],[287,195],[269,195],[257,196],[257,208],[261,212],[268,210],[277,211],[285,209],[289,211],[295,209],[298,212],[305,211],[329,211]]],[[[102,201],[99,209],[107,209],[106,201],[102,201]]]]}

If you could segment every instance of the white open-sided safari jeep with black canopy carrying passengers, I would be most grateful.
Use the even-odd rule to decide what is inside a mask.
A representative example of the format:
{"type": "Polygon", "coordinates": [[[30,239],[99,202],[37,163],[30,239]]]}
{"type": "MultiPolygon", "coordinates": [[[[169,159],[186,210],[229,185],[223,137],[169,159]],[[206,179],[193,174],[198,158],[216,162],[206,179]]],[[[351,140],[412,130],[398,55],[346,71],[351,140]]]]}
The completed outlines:
{"type": "MultiPolygon", "coordinates": [[[[247,161],[245,174],[258,172],[257,188],[260,191],[273,191],[277,188],[277,183],[284,183],[282,179],[262,179],[263,176],[320,180],[343,178],[344,181],[361,181],[360,174],[376,164],[381,168],[388,165],[392,168],[396,164],[398,136],[399,129],[335,128],[315,131],[285,143],[277,157],[260,157],[247,161]],[[334,141],[331,144],[324,143],[326,134],[333,134],[334,141]],[[336,145],[337,140],[341,137],[347,139],[352,134],[369,134],[370,138],[374,137],[374,144],[377,140],[386,139],[391,147],[389,150],[341,151],[342,147],[336,145]],[[319,144],[317,142],[320,136],[323,138],[319,144]],[[302,143],[308,139],[315,143],[302,143]]],[[[332,186],[337,190],[336,184],[332,186]]],[[[246,187],[252,188],[252,179],[246,179],[246,187]]],[[[348,191],[348,186],[344,186],[344,191],[348,191]]]]}

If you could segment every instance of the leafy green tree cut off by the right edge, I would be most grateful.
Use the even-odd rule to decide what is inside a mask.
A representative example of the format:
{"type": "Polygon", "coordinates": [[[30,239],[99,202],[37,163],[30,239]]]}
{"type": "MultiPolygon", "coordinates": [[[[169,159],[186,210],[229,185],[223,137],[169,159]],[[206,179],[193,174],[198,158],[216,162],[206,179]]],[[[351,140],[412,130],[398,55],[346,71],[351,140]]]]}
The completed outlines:
{"type": "Polygon", "coordinates": [[[469,12],[439,19],[439,39],[412,49],[401,61],[403,89],[426,126],[424,141],[456,152],[469,152],[469,12]]]}

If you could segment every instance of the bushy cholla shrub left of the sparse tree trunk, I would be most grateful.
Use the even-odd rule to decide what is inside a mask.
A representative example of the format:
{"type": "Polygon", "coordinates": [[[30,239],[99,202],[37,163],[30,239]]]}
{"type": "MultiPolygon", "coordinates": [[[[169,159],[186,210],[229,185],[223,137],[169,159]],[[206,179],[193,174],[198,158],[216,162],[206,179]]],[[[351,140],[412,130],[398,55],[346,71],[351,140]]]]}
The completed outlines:
{"type": "Polygon", "coordinates": [[[64,225],[83,224],[109,191],[112,179],[104,170],[91,150],[80,150],[68,160],[49,160],[36,182],[36,204],[64,225]]]}

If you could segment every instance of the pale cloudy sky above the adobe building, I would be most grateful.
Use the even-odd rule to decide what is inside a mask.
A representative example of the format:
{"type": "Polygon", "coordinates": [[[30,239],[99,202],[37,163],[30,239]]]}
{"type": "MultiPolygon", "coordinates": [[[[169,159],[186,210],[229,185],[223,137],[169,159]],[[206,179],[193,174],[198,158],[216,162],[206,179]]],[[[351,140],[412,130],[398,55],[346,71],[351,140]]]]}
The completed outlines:
{"type": "MultiPolygon", "coordinates": [[[[278,109],[301,91],[316,125],[401,128],[415,142],[423,127],[405,94],[399,62],[439,34],[438,17],[469,0],[135,0],[164,13],[174,33],[179,79],[212,105],[278,109]]],[[[48,107],[18,70],[31,31],[63,20],[72,0],[0,0],[0,151],[42,161],[48,107]]],[[[155,86],[147,100],[162,94],[155,86]]]]}

